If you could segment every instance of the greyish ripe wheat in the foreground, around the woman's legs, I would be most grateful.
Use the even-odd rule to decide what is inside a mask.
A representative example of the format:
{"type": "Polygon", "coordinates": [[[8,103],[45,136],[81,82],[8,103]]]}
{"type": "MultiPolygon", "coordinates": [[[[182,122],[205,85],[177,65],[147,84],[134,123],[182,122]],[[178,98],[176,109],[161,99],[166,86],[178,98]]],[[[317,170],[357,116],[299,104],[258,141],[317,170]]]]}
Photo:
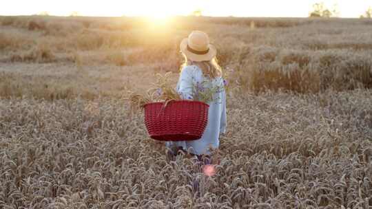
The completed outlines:
{"type": "Polygon", "coordinates": [[[234,97],[212,177],[194,157],[167,160],[125,100],[1,100],[0,204],[368,208],[371,100],[361,90],[234,97]]]}

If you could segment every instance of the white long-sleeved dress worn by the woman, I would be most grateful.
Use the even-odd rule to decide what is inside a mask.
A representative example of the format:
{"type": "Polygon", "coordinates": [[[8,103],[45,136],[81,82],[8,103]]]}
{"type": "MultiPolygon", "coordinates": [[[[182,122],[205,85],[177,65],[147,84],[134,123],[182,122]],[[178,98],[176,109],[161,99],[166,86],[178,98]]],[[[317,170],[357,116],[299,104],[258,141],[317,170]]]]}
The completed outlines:
{"type": "MultiPolygon", "coordinates": [[[[183,68],[177,83],[177,91],[182,94],[183,98],[192,98],[192,85],[194,83],[203,83],[206,78],[203,72],[196,65],[189,65],[183,68]]],[[[216,92],[215,100],[209,102],[207,127],[199,140],[166,142],[165,146],[171,148],[182,146],[185,151],[196,155],[210,155],[209,146],[218,148],[220,133],[225,133],[226,129],[226,93],[223,87],[223,78],[218,77],[211,80],[214,85],[220,85],[222,90],[216,92]]]]}

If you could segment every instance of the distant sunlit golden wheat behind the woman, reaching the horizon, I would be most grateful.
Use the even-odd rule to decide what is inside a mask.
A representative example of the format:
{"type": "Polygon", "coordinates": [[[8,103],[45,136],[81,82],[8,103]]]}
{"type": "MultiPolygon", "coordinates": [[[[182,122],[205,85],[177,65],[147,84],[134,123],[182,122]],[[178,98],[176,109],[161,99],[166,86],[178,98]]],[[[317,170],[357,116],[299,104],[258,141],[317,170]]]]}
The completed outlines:
{"type": "Polygon", "coordinates": [[[178,44],[193,25],[210,34],[220,63],[235,70],[231,85],[244,91],[372,86],[366,20],[177,18],[168,30],[151,30],[143,19],[129,18],[0,17],[0,23],[0,62],[156,64],[159,71],[175,72],[182,61],[178,44]],[[76,62],[76,53],[89,55],[76,62]]]}

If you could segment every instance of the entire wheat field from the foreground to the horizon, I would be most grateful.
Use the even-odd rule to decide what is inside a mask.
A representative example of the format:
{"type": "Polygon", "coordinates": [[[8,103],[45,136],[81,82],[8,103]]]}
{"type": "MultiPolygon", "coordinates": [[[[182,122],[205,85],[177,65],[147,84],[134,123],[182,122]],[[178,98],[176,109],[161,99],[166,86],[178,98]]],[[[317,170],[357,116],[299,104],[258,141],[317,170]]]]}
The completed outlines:
{"type": "Polygon", "coordinates": [[[0,208],[372,208],[372,21],[0,17],[0,208]],[[127,91],[207,32],[229,82],[216,175],[127,91]],[[198,181],[196,191],[193,182],[198,181]]]}

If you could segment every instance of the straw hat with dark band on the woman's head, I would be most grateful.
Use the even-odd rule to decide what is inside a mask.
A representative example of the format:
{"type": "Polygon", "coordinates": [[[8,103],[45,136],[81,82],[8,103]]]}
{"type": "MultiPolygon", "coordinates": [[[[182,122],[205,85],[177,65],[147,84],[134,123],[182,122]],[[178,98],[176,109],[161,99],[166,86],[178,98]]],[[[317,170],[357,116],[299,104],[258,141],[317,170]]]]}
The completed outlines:
{"type": "Polygon", "coordinates": [[[211,61],[216,56],[216,47],[209,43],[205,32],[194,30],[180,43],[180,51],[191,61],[211,61]]]}

